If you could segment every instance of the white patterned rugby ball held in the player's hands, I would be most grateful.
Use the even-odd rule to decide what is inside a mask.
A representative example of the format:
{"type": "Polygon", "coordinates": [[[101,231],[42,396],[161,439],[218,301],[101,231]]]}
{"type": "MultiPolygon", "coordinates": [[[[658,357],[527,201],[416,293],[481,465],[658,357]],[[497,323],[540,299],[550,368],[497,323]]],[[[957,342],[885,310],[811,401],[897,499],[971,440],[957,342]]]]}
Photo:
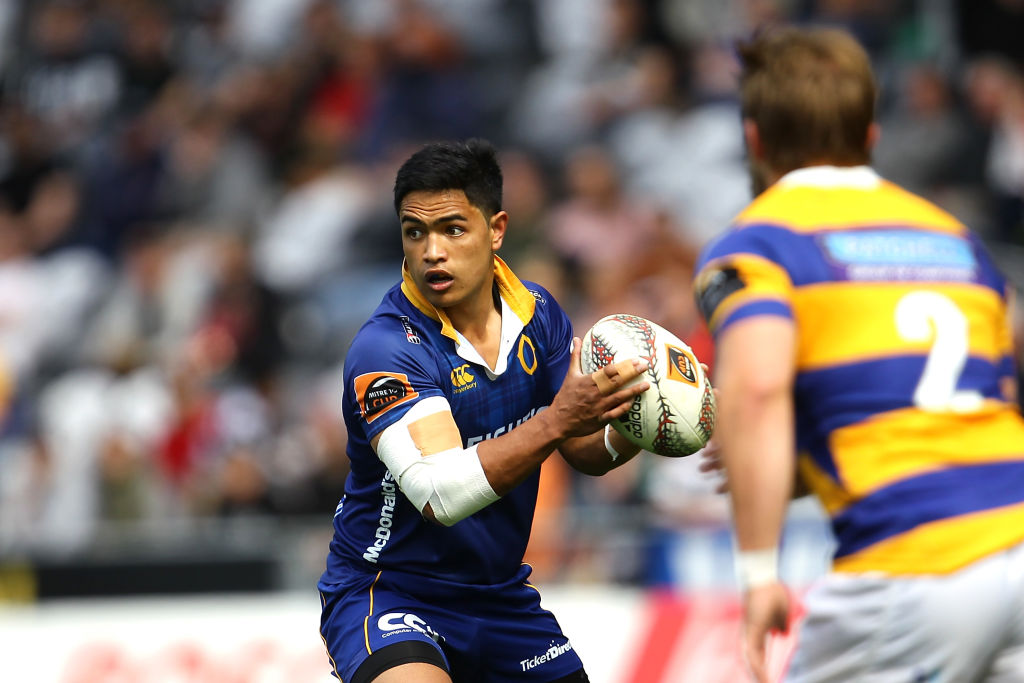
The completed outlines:
{"type": "MultiPolygon", "coordinates": [[[[693,350],[665,328],[628,313],[602,317],[583,338],[580,362],[590,374],[643,358],[650,388],[611,426],[650,453],[681,458],[705,446],[715,430],[715,394],[693,350]]],[[[637,380],[640,381],[640,380],[637,380]]]]}

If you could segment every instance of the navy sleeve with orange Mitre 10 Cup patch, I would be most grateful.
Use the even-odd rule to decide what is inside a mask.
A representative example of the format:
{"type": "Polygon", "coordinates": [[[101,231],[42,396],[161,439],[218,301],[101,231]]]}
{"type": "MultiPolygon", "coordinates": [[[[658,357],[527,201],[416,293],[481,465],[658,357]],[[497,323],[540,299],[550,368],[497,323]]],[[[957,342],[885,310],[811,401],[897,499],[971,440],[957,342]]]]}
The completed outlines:
{"type": "Polygon", "coordinates": [[[351,397],[346,418],[361,427],[367,440],[424,398],[444,395],[429,347],[387,330],[387,323],[364,328],[345,356],[345,393],[351,397]]]}

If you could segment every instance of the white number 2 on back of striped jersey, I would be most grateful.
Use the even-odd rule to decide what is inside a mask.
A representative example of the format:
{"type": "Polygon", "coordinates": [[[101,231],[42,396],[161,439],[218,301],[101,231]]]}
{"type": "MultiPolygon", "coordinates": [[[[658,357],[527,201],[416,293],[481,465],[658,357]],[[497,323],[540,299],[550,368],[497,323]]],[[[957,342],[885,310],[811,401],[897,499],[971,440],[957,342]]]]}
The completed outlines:
{"type": "Polygon", "coordinates": [[[981,408],[978,391],[956,390],[968,356],[967,316],[949,297],[911,292],[896,304],[896,330],[906,341],[931,340],[913,404],[932,413],[971,413],[981,408]]]}

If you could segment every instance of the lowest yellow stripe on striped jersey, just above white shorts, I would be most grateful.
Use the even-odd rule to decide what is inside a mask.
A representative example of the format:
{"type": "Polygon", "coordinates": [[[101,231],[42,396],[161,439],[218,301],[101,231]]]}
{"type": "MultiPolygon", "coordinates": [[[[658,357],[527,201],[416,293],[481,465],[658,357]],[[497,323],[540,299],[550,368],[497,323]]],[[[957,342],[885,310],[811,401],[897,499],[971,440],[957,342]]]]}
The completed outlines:
{"type": "Polygon", "coordinates": [[[838,558],[836,571],[949,573],[1024,540],[1024,503],[922,524],[838,558]]]}

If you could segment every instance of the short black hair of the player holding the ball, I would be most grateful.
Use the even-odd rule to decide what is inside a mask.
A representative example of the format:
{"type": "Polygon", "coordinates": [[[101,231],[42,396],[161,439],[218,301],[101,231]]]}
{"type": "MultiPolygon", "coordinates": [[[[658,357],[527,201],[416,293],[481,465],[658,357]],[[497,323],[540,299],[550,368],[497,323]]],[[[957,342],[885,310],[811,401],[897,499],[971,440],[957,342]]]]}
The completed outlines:
{"type": "Polygon", "coordinates": [[[490,142],[431,142],[398,169],[394,179],[394,210],[410,193],[461,189],[466,199],[490,218],[502,210],[502,168],[490,142]]]}

